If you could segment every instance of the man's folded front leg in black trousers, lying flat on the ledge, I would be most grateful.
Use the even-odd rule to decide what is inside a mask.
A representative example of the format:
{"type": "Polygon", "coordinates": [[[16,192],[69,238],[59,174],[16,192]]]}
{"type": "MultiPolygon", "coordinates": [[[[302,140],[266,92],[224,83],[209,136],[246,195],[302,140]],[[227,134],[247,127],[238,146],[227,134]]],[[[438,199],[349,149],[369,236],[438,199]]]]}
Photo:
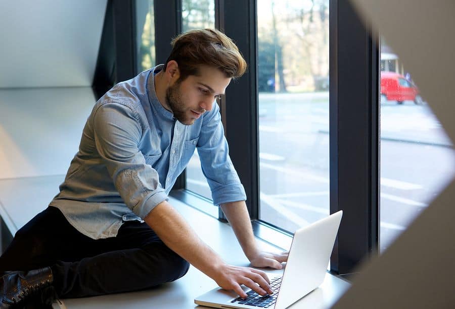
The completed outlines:
{"type": "Polygon", "coordinates": [[[52,267],[61,298],[75,298],[150,288],[184,276],[189,264],[163,243],[112,251],[52,267]]]}

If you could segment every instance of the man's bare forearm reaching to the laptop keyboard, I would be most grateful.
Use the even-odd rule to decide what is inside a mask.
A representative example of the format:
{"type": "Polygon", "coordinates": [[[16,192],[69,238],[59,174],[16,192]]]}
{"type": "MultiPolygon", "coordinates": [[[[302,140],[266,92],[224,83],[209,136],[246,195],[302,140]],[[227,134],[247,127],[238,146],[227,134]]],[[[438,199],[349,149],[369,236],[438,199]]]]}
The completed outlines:
{"type": "Polygon", "coordinates": [[[206,275],[213,277],[224,264],[168,202],[158,204],[144,220],[172,251],[206,275]]]}

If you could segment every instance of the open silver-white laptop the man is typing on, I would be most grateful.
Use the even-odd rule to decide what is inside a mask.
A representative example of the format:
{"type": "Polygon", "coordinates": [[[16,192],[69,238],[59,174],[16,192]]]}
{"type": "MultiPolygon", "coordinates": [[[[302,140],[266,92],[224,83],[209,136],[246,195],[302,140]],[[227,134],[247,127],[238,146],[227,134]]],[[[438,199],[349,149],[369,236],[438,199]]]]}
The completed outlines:
{"type": "Polygon", "coordinates": [[[215,308],[283,309],[292,305],[323,283],[342,214],[338,211],[294,233],[283,276],[269,278],[274,294],[261,296],[242,285],[249,295],[246,299],[215,288],[194,302],[215,308]]]}

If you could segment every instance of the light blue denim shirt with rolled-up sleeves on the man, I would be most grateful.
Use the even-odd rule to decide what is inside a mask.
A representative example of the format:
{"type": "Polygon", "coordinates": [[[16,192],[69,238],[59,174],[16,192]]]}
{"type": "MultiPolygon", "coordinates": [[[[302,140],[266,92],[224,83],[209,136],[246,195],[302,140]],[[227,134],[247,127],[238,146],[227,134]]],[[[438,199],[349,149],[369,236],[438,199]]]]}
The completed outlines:
{"type": "Polygon", "coordinates": [[[213,104],[191,126],[158,101],[154,75],[162,65],[115,85],[89,115],[60,193],[59,208],[82,234],[117,235],[125,221],[142,219],[167,195],[195,148],[214,205],[246,199],[213,104]]]}

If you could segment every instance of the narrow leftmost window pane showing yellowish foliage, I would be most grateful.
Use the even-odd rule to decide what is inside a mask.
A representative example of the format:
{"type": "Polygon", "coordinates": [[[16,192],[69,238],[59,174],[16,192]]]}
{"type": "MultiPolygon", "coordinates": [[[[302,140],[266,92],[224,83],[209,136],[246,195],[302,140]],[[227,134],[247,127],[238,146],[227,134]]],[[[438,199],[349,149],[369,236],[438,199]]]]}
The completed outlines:
{"type": "Polygon", "coordinates": [[[139,36],[139,72],[155,66],[155,12],[153,0],[136,1],[136,20],[139,36]]]}

